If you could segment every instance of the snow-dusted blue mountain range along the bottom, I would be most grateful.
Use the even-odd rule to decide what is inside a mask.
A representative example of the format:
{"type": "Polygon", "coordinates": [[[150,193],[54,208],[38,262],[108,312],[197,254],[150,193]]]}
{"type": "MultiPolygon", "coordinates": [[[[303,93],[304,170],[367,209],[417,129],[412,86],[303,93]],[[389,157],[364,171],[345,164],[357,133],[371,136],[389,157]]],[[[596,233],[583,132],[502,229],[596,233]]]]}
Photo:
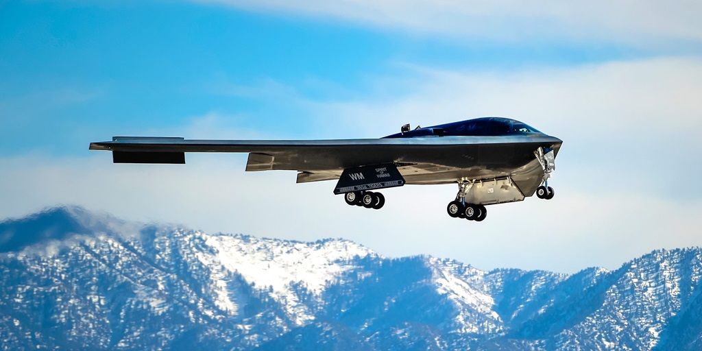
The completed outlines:
{"type": "Polygon", "coordinates": [[[485,272],[54,208],[0,223],[0,348],[702,350],[701,260],[485,272]]]}

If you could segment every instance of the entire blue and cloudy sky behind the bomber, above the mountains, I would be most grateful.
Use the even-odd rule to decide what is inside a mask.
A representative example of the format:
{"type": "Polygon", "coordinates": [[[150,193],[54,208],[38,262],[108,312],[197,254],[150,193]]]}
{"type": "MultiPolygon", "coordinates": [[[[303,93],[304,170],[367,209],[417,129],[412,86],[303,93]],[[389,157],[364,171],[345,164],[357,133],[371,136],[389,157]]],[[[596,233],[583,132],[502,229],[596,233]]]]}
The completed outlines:
{"type": "MultiPolygon", "coordinates": [[[[0,217],[79,204],[256,236],[347,237],[490,269],[614,268],[699,245],[702,25],[691,1],[4,1],[0,217]],[[564,140],[546,203],[446,216],[453,187],[355,211],[245,155],[112,165],[112,135],[374,138],[500,115],[564,140]],[[270,210],[280,207],[270,220],[270,210]],[[416,222],[419,223],[416,223],[416,222]],[[362,229],[361,229],[362,228],[362,229]]],[[[395,199],[393,199],[395,197],[395,199]]],[[[274,211],[275,212],[275,211],[274,211]]]]}

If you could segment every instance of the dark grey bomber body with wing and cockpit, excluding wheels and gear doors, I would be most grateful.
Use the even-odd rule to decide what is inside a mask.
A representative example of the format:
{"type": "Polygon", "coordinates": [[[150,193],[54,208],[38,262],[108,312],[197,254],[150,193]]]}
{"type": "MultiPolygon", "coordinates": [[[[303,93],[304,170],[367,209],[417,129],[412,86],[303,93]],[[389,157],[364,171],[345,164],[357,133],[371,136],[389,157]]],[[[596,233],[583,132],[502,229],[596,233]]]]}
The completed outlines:
{"type": "Polygon", "coordinates": [[[543,168],[534,152],[542,147],[557,154],[561,144],[562,140],[521,122],[489,117],[421,128],[380,139],[115,137],[109,142],[91,143],[90,148],[112,151],[115,162],[140,163],[183,163],[184,155],[183,162],[169,161],[166,155],[178,156],[185,152],[249,152],[247,171],[300,171],[298,183],[338,179],[345,168],[394,163],[406,184],[446,184],[508,177],[524,196],[531,196],[543,180],[543,168]]]}

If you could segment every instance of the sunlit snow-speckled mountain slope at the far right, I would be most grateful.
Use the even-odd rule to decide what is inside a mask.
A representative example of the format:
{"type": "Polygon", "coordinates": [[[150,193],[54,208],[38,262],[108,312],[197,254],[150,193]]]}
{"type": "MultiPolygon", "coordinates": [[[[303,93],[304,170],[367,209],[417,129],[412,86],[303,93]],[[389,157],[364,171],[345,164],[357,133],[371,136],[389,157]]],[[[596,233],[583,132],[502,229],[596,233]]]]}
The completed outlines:
{"type": "Polygon", "coordinates": [[[670,319],[700,289],[702,251],[658,250],[626,263],[609,276],[597,309],[557,339],[562,345],[651,350],[670,319]],[[568,342],[566,342],[568,340],[568,342]]]}

